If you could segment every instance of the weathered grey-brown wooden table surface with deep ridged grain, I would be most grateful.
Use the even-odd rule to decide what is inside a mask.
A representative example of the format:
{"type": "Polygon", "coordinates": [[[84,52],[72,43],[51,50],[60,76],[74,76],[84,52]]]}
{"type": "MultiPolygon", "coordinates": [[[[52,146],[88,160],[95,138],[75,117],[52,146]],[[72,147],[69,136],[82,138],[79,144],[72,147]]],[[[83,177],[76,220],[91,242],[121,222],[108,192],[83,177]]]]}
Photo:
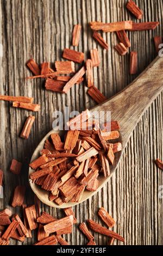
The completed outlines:
{"type": "MultiPolygon", "coordinates": [[[[25,81],[30,72],[26,61],[33,57],[36,62],[52,62],[61,59],[62,50],[71,45],[73,25],[83,27],[82,38],[77,50],[85,52],[97,47],[101,65],[94,69],[95,86],[110,97],[127,86],[134,76],[129,75],[129,54],[118,56],[114,50],[117,43],[115,33],[103,34],[108,41],[106,52],[91,37],[90,21],[113,22],[133,19],[125,8],[126,0],[1,0],[0,43],[3,44],[3,58],[0,57],[1,94],[33,96],[41,103],[41,111],[35,113],[35,123],[26,141],[19,137],[29,112],[11,107],[11,103],[0,102],[1,166],[4,170],[4,199],[0,209],[10,205],[16,185],[26,185],[26,203],[32,204],[34,194],[28,185],[28,163],[36,145],[52,129],[52,114],[69,106],[71,111],[82,111],[95,105],[83,84],[74,86],[67,95],[55,94],[44,89],[42,80],[25,81]],[[9,171],[12,158],[23,162],[20,176],[9,171]]],[[[162,35],[162,0],[135,1],[144,11],[142,21],[159,21],[155,31],[128,33],[131,50],[139,54],[139,74],[154,59],[153,36],[162,35]]],[[[115,231],[125,237],[126,245],[163,244],[163,199],[159,199],[159,186],[163,175],[154,164],[156,157],[163,158],[163,94],[137,125],[127,145],[116,174],[104,188],[86,202],[74,208],[78,223],[87,218],[98,220],[97,209],[104,206],[115,218],[115,231]]],[[[33,114],[33,113],[30,113],[33,114]]],[[[13,209],[12,209],[13,210],[13,209]]],[[[42,210],[53,216],[62,217],[62,210],[42,205],[42,210]]],[[[22,214],[19,208],[13,210],[22,214]]],[[[99,220],[98,220],[99,221],[99,220]]],[[[100,222],[100,221],[99,221],[100,222]]],[[[36,241],[28,239],[24,244],[36,241]]],[[[87,240],[77,225],[73,234],[66,236],[71,245],[84,245],[87,240]]],[[[106,245],[108,239],[95,234],[98,245],[106,245]]],[[[12,240],[13,245],[21,244],[12,240]]],[[[115,242],[116,243],[116,242],[115,242]]]]}

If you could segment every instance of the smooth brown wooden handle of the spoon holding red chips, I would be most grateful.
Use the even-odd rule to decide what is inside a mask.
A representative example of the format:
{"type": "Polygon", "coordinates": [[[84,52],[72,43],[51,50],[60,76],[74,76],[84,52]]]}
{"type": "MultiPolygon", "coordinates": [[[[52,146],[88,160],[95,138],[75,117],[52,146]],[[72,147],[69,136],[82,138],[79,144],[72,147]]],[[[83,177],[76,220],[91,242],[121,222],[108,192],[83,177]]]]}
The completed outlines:
{"type": "Polygon", "coordinates": [[[153,62],[120,93],[92,111],[111,111],[111,119],[121,125],[123,147],[143,113],[163,90],[163,57],[153,62]]]}

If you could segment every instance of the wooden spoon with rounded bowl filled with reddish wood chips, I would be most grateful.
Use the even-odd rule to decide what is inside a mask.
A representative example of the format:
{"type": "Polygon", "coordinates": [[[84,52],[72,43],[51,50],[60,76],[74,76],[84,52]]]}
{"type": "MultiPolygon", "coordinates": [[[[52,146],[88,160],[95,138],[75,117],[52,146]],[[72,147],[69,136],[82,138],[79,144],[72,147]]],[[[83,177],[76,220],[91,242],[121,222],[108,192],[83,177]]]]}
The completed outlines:
{"type": "MultiPolygon", "coordinates": [[[[162,90],[163,58],[156,57],[154,61],[147,67],[147,69],[143,71],[142,74],[132,83],[130,83],[128,87],[124,88],[122,92],[111,97],[111,99],[105,101],[101,105],[91,109],[91,111],[111,111],[111,119],[117,120],[121,125],[120,141],[122,142],[122,151],[116,154],[114,166],[111,167],[111,175],[108,178],[100,177],[97,191],[99,191],[105,185],[105,183],[108,182],[112,174],[115,172],[117,164],[122,157],[124,148],[126,147],[136,124],[139,122],[143,113],[145,113],[147,108],[151,105],[151,103],[161,93],[162,90]]],[[[43,149],[45,140],[49,137],[49,135],[51,135],[51,133],[54,133],[54,131],[50,131],[37,146],[32,156],[31,162],[39,157],[39,152],[41,149],[43,149]]],[[[32,172],[33,170],[29,168],[29,174],[32,172]]],[[[86,199],[92,197],[93,194],[97,193],[97,191],[85,191],[79,203],[70,202],[57,205],[54,202],[50,202],[48,200],[48,192],[42,190],[39,186],[32,183],[32,180],[30,179],[29,183],[36,196],[43,203],[56,208],[66,208],[82,203],[86,199]]]]}

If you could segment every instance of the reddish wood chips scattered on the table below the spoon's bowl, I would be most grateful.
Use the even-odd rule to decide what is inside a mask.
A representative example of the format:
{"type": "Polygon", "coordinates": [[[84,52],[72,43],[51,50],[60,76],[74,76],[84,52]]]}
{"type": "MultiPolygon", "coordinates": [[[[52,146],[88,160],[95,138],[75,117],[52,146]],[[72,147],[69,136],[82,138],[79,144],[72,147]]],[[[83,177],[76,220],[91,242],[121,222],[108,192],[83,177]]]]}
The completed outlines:
{"type": "MultiPolygon", "coordinates": [[[[71,234],[73,225],[77,223],[71,207],[64,209],[66,217],[60,220],[46,212],[40,214],[40,202],[37,198],[35,205],[27,207],[27,205],[22,204],[22,208],[23,221],[17,214],[12,214],[9,209],[0,211],[0,245],[9,245],[10,239],[24,242],[26,237],[32,238],[32,230],[37,230],[37,242],[34,245],[57,245],[57,243],[69,245],[62,235],[71,234]]],[[[89,240],[87,245],[96,245],[94,236],[88,228],[108,236],[108,245],[112,245],[115,239],[124,242],[124,238],[121,235],[110,230],[110,228],[114,227],[115,221],[108,212],[101,208],[98,211],[98,215],[107,228],[92,220],[87,220],[88,227],[85,222],[79,224],[79,229],[89,240]]]]}

